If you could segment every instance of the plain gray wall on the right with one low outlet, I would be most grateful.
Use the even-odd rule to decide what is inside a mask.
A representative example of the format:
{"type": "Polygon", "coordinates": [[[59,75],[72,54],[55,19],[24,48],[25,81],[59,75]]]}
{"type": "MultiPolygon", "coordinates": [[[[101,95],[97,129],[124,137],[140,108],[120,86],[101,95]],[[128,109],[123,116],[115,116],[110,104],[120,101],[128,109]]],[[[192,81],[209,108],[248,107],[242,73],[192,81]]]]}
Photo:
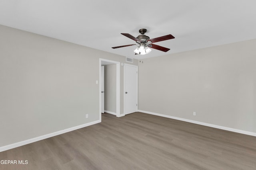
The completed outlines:
{"type": "Polygon", "coordinates": [[[256,39],[141,60],[138,109],[255,133],[255,47],[256,39]]]}

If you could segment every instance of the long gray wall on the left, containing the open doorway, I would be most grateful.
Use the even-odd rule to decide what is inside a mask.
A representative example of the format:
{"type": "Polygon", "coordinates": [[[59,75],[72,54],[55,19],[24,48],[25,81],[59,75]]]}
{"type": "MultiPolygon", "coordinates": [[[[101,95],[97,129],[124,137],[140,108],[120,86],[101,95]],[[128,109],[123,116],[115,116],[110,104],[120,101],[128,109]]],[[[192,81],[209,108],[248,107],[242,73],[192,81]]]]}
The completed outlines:
{"type": "Polygon", "coordinates": [[[123,56],[0,25],[0,147],[99,120],[99,58],[125,63],[123,56]]]}

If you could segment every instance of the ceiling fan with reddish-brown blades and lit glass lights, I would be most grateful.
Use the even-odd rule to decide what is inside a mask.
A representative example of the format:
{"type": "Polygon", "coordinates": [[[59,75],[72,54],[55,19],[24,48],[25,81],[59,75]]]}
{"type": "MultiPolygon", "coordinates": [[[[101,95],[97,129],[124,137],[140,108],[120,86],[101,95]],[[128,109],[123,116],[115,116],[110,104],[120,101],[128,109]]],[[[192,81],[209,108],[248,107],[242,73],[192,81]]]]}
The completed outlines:
{"type": "Polygon", "coordinates": [[[136,41],[137,44],[122,45],[122,46],[112,47],[112,49],[117,49],[117,48],[121,48],[121,47],[128,47],[128,46],[132,46],[132,45],[138,45],[138,47],[134,50],[135,54],[141,54],[141,55],[147,54],[151,51],[150,48],[167,52],[170,49],[168,49],[166,47],[156,45],[156,44],[152,44],[152,43],[156,43],[156,42],[159,42],[159,41],[165,41],[165,40],[168,40],[168,39],[175,38],[174,36],[169,34],[169,35],[165,35],[165,36],[162,36],[162,37],[157,37],[157,38],[150,39],[148,36],[144,35],[144,33],[147,32],[147,29],[144,29],[144,28],[140,29],[139,32],[141,33],[141,35],[139,35],[136,38],[134,36],[128,34],[128,33],[121,33],[122,35],[136,41]]]}

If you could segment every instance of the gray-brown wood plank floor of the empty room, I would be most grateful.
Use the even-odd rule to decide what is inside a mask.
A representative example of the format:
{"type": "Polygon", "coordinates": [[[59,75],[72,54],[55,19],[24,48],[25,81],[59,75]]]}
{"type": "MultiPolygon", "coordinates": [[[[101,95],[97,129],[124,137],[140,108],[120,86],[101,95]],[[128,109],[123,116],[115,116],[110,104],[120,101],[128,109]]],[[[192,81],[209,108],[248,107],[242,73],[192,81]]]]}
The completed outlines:
{"type": "Polygon", "coordinates": [[[256,170],[256,137],[145,113],[0,152],[0,170],[256,170]]]}

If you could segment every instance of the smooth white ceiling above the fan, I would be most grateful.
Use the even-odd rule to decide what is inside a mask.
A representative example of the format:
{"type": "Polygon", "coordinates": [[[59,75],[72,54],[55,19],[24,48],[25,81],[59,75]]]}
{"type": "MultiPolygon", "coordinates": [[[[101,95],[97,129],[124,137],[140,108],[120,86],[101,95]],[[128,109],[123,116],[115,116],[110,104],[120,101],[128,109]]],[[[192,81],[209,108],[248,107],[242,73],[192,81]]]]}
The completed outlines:
{"type": "Polygon", "coordinates": [[[256,38],[255,0],[0,0],[0,24],[40,35],[143,59],[256,38]],[[134,55],[135,41],[146,28],[150,38],[172,34],[134,55]]]}

